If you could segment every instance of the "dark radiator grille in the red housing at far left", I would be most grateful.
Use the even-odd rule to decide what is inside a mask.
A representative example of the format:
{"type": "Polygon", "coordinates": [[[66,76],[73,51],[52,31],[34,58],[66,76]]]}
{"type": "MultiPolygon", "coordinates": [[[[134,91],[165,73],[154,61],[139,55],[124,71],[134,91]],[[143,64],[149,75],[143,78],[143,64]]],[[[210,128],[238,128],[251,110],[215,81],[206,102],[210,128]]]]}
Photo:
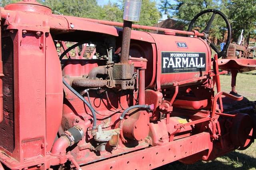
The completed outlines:
{"type": "Polygon", "coordinates": [[[3,121],[0,123],[0,146],[9,152],[14,150],[14,62],[13,42],[2,38],[3,62],[3,121]]]}

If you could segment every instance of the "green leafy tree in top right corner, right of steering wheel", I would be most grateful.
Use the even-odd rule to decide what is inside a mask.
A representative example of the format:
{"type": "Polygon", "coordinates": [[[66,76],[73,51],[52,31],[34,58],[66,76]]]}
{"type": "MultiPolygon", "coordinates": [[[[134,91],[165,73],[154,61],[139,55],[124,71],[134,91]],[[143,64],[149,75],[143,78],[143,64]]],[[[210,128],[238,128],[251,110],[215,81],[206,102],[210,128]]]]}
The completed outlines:
{"type": "Polygon", "coordinates": [[[256,1],[230,0],[228,9],[230,10],[229,17],[232,21],[231,25],[235,40],[243,29],[248,43],[249,38],[256,34],[256,1]]]}

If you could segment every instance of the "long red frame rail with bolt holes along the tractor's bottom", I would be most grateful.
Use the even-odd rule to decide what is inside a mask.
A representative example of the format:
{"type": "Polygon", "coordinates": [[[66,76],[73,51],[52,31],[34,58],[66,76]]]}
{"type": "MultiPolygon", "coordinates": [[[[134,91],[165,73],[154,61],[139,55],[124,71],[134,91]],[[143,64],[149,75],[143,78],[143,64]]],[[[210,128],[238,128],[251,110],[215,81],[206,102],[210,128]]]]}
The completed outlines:
{"type": "Polygon", "coordinates": [[[212,148],[208,133],[196,134],[181,140],[176,140],[162,146],[155,146],[137,152],[129,153],[102,162],[96,162],[81,167],[84,170],[93,169],[136,169],[150,170],[167,162],[174,162],[188,155],[196,154],[212,148]],[[208,142],[202,142],[208,141],[208,142]],[[170,155],[170,156],[169,156],[170,155]],[[125,165],[125,166],[124,166],[125,165]]]}

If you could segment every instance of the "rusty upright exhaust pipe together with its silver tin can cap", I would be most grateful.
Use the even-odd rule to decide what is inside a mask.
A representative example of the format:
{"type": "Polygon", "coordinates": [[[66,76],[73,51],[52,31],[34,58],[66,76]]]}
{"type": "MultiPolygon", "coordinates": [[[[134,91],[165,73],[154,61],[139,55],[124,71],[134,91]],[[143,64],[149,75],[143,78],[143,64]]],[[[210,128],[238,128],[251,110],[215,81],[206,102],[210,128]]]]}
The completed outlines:
{"type": "Polygon", "coordinates": [[[124,5],[124,26],[122,35],[121,63],[128,63],[132,22],[140,20],[142,0],[126,0],[124,5]]]}

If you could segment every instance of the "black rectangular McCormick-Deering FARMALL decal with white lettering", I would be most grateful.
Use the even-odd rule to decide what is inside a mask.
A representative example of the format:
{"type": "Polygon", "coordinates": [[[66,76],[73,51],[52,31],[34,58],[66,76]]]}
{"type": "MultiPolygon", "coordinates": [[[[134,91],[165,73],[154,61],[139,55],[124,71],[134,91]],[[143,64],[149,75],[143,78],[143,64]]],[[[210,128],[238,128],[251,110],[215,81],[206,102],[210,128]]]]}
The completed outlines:
{"type": "Polygon", "coordinates": [[[162,52],[162,73],[205,71],[205,53],[162,52]]]}

